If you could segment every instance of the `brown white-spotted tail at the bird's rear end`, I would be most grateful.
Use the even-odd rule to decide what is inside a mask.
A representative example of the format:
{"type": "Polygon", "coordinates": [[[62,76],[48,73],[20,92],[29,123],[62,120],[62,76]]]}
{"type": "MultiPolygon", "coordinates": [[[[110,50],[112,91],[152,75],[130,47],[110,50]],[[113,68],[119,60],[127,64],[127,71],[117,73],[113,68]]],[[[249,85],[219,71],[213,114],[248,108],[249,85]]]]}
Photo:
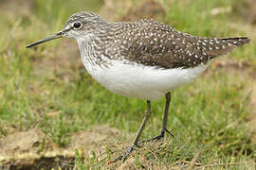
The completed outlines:
{"type": "Polygon", "coordinates": [[[250,39],[247,37],[235,37],[235,38],[202,38],[200,41],[203,44],[203,51],[210,59],[217,56],[225,55],[235,49],[237,46],[241,46],[245,43],[249,43],[250,39]]]}

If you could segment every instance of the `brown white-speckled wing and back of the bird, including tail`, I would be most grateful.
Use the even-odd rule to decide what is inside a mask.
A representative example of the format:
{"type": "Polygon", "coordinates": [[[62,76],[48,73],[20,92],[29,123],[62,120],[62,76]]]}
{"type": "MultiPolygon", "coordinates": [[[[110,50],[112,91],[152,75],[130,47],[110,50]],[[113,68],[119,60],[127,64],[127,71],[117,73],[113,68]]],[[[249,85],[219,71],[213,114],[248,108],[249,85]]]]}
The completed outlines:
{"type": "Polygon", "coordinates": [[[120,46],[126,46],[124,58],[161,68],[190,68],[249,42],[247,38],[197,38],[152,20],[122,24],[120,46]],[[133,37],[129,39],[128,37],[133,37]],[[125,38],[127,37],[127,38],[125,38]]]}

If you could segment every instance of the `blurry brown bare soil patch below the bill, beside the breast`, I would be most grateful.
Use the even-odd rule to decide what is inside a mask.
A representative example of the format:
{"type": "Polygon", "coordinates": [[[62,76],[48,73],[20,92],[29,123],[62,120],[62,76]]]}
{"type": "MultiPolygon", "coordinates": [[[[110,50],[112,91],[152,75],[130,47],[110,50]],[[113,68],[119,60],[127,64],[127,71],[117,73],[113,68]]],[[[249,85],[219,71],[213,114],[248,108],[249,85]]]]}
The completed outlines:
{"type": "Polygon", "coordinates": [[[65,82],[73,81],[77,69],[86,73],[80,52],[75,41],[69,39],[61,40],[57,51],[51,50],[43,53],[43,58],[37,58],[33,63],[36,76],[47,76],[54,79],[56,76],[65,82]]]}

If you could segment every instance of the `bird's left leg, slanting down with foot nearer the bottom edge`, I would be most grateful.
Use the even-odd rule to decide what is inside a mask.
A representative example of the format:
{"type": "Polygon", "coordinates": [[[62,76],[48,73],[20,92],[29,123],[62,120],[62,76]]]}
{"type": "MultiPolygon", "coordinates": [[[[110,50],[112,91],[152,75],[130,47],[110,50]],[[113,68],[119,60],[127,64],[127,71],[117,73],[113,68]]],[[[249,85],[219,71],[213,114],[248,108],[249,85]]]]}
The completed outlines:
{"type": "Polygon", "coordinates": [[[137,130],[137,134],[136,134],[136,137],[132,143],[132,145],[130,145],[128,147],[128,149],[123,152],[122,155],[120,155],[118,158],[116,158],[115,160],[113,161],[110,161],[109,163],[112,163],[112,162],[115,162],[115,161],[119,161],[119,160],[122,160],[122,161],[125,161],[127,159],[127,157],[129,156],[129,154],[134,150],[134,148],[137,146],[138,144],[138,140],[139,140],[139,137],[141,136],[141,133],[146,125],[146,122],[147,120],[149,119],[151,115],[151,103],[150,103],[150,100],[147,100],[147,110],[144,114],[144,118],[143,118],[143,121],[142,123],[140,124],[140,127],[138,128],[137,130]]]}

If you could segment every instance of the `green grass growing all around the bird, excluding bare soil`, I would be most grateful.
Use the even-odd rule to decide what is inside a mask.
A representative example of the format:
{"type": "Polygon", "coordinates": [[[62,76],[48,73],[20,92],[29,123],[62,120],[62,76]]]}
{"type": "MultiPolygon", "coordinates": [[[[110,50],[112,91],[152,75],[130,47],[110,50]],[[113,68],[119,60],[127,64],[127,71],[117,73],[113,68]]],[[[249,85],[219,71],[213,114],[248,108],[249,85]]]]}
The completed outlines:
{"type": "MultiPolygon", "coordinates": [[[[82,1],[76,1],[78,4],[74,6],[60,0],[46,2],[35,1],[30,17],[1,13],[0,30],[6,34],[0,37],[0,140],[11,132],[10,127],[27,130],[38,126],[54,143],[65,146],[75,132],[108,125],[123,131],[121,142],[130,144],[128,139],[142,120],[145,101],[110,93],[78,68],[60,67],[50,72],[48,68],[62,62],[61,57],[41,68],[44,59],[59,54],[57,50],[61,41],[46,43],[36,49],[25,48],[27,43],[59,30],[74,11],[84,8],[97,11],[102,2],[90,1],[87,6],[82,1]],[[64,79],[66,73],[72,76],[71,80],[64,79]],[[59,114],[47,116],[52,112],[59,114]]],[[[197,36],[247,35],[255,38],[255,33],[248,35],[247,29],[239,27],[245,25],[243,18],[234,17],[239,16],[239,11],[210,15],[212,8],[236,9],[239,3],[238,0],[165,1],[168,7],[160,22],[197,36]]],[[[227,58],[236,62],[247,61],[249,69],[255,71],[255,57],[256,43],[251,42],[227,58]]],[[[147,144],[137,149],[133,153],[135,168],[145,164],[139,159],[141,155],[147,162],[168,167],[177,161],[192,161],[197,153],[200,153],[197,161],[202,164],[255,161],[256,146],[251,140],[255,136],[247,124],[252,111],[247,91],[250,78],[243,70],[210,68],[208,74],[200,76],[194,83],[174,91],[168,128],[175,138],[169,137],[161,146],[147,144]]],[[[153,102],[153,114],[143,138],[159,133],[163,104],[164,99],[153,102]]],[[[96,156],[82,161],[76,150],[76,167],[102,168],[111,158],[113,156],[109,153],[103,162],[97,161],[96,156]]],[[[228,168],[246,169],[247,165],[228,168]]]]}

